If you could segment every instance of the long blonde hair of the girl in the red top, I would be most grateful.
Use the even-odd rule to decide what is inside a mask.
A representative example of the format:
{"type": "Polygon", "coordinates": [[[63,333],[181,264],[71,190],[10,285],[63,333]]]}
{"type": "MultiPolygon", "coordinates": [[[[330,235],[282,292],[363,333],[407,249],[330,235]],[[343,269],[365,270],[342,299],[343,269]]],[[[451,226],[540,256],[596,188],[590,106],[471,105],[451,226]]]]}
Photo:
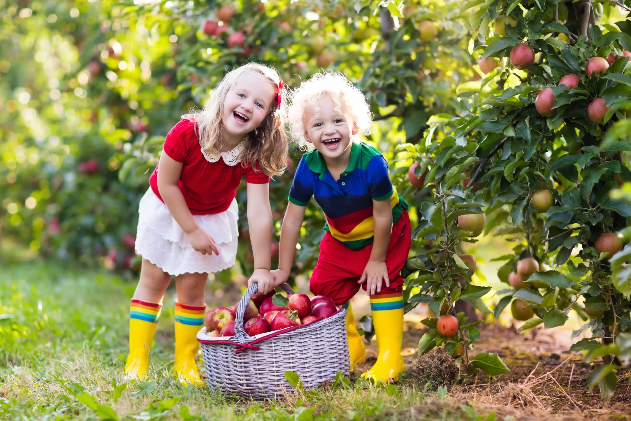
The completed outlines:
{"type": "MultiPolygon", "coordinates": [[[[196,123],[199,143],[208,153],[216,155],[225,146],[221,137],[223,104],[235,82],[249,72],[261,74],[274,88],[278,89],[278,82],[281,79],[276,69],[268,68],[264,64],[247,63],[226,74],[202,110],[192,110],[189,114],[182,116],[182,119],[189,119],[196,123]]],[[[258,163],[266,175],[283,174],[288,163],[288,141],[285,132],[286,97],[286,90],[283,90],[279,109],[278,98],[274,96],[274,100],[269,106],[268,115],[261,126],[249,133],[249,143],[239,155],[241,165],[244,167],[251,164],[252,168],[258,172],[256,167],[256,163],[258,163]]]]}

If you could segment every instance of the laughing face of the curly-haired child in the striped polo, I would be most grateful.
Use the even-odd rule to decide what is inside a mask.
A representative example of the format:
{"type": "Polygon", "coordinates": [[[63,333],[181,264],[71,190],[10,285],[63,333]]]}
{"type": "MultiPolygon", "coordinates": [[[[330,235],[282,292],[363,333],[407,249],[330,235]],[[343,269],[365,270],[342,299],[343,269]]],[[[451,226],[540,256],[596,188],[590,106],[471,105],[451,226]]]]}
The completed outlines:
{"type": "Polygon", "coordinates": [[[328,160],[350,157],[351,136],[359,131],[346,107],[336,112],[328,95],[321,99],[319,110],[314,105],[305,108],[305,130],[307,141],[328,160]]]}

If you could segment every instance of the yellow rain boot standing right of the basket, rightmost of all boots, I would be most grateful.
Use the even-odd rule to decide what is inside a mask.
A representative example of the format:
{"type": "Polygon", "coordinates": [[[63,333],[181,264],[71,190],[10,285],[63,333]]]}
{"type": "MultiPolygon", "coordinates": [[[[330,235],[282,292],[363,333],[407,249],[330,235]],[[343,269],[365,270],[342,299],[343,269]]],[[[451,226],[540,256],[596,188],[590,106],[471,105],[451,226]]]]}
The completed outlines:
{"type": "Polygon", "coordinates": [[[375,325],[379,356],[369,371],[362,374],[365,379],[388,382],[405,372],[401,355],[403,346],[403,295],[384,294],[370,299],[372,323],[375,325]]]}

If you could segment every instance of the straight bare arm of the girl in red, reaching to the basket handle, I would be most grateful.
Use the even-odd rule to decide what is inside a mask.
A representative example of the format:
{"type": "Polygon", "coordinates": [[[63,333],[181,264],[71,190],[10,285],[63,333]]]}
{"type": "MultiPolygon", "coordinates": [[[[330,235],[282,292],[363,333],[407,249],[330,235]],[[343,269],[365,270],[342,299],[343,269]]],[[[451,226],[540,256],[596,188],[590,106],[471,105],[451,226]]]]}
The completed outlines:
{"type": "Polygon", "coordinates": [[[259,284],[258,292],[267,294],[274,288],[271,268],[272,211],[269,207],[269,184],[247,183],[247,223],[250,228],[254,272],[247,282],[259,284]]]}

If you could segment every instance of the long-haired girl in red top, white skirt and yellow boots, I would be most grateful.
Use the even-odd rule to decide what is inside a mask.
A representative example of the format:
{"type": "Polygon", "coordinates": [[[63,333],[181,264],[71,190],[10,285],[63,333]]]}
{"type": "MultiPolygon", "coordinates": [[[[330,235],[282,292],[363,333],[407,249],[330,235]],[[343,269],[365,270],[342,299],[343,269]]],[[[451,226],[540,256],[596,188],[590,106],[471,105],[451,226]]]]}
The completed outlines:
{"type": "Polygon", "coordinates": [[[143,256],[129,316],[128,378],[142,379],[162,298],[175,276],[175,367],[182,384],[203,386],[195,363],[209,272],[237,253],[235,194],[245,176],[247,220],[259,292],[273,288],[269,176],[286,166],[283,82],[261,64],[228,73],[204,109],[182,116],[167,134],[150,188],[139,205],[136,252],[143,256]],[[159,169],[159,170],[158,170],[159,169]]]}

